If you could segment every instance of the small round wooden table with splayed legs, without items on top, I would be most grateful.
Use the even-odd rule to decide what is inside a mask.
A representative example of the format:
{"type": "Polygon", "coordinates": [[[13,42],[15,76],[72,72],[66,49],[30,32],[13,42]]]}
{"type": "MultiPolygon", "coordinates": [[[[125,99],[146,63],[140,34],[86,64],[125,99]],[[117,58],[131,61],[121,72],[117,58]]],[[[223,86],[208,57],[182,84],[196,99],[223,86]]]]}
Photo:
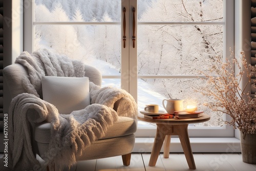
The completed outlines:
{"type": "Polygon", "coordinates": [[[149,166],[155,166],[161,147],[164,142],[164,158],[169,157],[169,145],[170,136],[178,135],[180,138],[181,146],[183,148],[184,155],[187,160],[188,167],[190,169],[196,169],[196,164],[194,161],[193,153],[190,146],[190,141],[188,137],[187,127],[189,123],[199,123],[210,120],[210,116],[204,114],[198,118],[186,118],[186,119],[150,119],[144,118],[144,115],[139,114],[138,119],[157,124],[157,132],[154,140],[154,145],[150,157],[149,166]]]}

